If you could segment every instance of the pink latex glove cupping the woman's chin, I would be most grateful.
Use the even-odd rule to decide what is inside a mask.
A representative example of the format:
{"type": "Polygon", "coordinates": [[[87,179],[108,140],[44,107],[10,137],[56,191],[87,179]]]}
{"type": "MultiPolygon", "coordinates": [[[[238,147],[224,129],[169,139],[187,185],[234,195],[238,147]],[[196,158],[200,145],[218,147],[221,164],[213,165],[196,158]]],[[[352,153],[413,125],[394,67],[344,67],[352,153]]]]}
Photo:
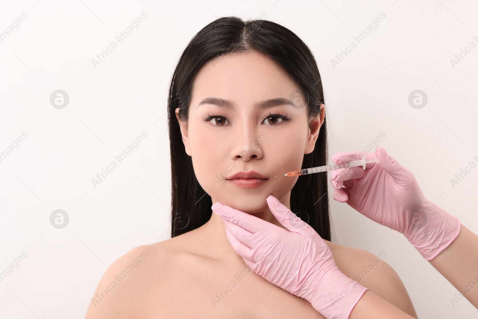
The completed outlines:
{"type": "Polygon", "coordinates": [[[326,242],[272,195],[269,209],[287,229],[216,202],[232,247],[258,275],[302,297],[328,319],[348,319],[368,288],[337,267],[326,242]]]}

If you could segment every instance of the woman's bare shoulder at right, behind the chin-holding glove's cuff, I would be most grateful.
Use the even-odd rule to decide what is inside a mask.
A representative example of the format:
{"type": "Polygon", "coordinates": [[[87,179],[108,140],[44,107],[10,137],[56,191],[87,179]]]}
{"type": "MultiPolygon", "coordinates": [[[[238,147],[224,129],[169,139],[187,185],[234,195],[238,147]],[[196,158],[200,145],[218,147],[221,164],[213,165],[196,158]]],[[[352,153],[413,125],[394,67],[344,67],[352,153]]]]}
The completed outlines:
{"type": "Polygon", "coordinates": [[[363,249],[342,246],[326,241],[334,255],[337,267],[349,278],[367,287],[395,307],[417,318],[412,300],[402,280],[383,259],[387,253],[378,256],[363,249]]]}

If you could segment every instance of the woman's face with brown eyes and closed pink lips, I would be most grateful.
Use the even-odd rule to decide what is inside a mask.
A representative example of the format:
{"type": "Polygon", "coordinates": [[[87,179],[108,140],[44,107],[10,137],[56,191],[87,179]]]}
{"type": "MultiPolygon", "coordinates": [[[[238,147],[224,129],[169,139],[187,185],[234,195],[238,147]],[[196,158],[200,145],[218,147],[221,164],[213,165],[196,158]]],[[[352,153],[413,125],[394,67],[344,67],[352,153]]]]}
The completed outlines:
{"type": "Polygon", "coordinates": [[[280,65],[254,51],[217,57],[201,69],[187,125],[180,123],[196,178],[213,203],[257,213],[273,195],[290,208],[298,176],[283,175],[301,169],[304,154],[314,150],[325,110],[321,104],[320,117],[309,123],[298,92],[280,65]],[[253,188],[231,179],[250,171],[266,178],[254,179],[253,188]]]}

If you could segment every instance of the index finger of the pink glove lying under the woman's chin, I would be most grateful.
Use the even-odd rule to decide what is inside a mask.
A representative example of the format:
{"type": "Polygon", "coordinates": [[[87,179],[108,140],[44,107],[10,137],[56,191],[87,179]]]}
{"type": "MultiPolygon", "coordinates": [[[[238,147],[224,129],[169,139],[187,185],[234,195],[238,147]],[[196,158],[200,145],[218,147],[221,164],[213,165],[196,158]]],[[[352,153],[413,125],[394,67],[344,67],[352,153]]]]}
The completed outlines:
{"type": "Polygon", "coordinates": [[[265,220],[261,220],[258,217],[252,216],[238,209],[233,209],[218,201],[211,206],[211,209],[215,211],[219,216],[223,217],[223,219],[232,221],[233,223],[238,224],[240,227],[252,233],[261,231],[262,229],[268,227],[270,224],[265,220]]]}

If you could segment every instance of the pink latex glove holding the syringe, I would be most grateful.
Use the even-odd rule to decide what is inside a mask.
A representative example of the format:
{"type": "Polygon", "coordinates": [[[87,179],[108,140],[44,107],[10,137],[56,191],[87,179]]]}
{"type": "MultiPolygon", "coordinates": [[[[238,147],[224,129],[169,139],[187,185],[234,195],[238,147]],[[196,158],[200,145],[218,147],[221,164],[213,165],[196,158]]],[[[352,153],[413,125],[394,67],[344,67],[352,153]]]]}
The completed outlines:
{"type": "MultiPolygon", "coordinates": [[[[413,173],[377,146],[380,163],[332,171],[334,199],[346,202],[362,215],[401,232],[425,260],[435,258],[460,233],[460,221],[425,198],[413,173]],[[344,186],[344,187],[342,187],[344,186]]],[[[332,156],[335,164],[362,158],[358,151],[332,156]]]]}

